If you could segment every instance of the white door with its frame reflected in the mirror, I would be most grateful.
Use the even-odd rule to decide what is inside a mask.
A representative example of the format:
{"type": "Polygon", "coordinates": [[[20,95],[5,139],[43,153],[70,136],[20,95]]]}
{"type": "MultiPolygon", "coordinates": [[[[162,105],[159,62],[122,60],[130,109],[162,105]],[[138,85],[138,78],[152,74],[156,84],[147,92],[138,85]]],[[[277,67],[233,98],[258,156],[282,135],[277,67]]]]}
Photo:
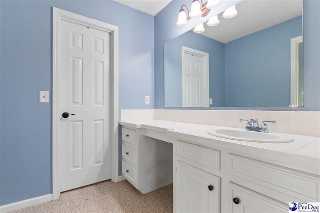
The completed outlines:
{"type": "Polygon", "coordinates": [[[183,107],[208,107],[208,53],[182,48],[183,107]]]}

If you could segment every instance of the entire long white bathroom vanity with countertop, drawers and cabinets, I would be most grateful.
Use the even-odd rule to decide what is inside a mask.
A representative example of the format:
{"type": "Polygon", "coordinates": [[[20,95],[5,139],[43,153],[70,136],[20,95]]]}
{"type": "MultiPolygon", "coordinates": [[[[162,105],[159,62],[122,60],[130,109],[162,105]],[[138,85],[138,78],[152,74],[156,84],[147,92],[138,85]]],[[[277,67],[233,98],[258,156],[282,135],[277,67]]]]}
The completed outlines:
{"type": "Polygon", "coordinates": [[[257,143],[207,133],[217,126],[119,123],[123,177],[142,193],[173,182],[174,212],[287,212],[290,202],[320,201],[318,137],[282,134],[294,141],[257,143]]]}

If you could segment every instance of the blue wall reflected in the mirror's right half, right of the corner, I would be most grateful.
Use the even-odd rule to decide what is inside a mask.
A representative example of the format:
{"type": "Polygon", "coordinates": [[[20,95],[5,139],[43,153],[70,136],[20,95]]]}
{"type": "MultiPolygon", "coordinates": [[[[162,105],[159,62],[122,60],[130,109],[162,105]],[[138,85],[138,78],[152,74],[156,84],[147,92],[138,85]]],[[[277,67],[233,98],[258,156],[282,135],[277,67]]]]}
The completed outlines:
{"type": "Polygon", "coordinates": [[[302,17],[225,43],[225,106],[290,105],[290,39],[302,17]]]}

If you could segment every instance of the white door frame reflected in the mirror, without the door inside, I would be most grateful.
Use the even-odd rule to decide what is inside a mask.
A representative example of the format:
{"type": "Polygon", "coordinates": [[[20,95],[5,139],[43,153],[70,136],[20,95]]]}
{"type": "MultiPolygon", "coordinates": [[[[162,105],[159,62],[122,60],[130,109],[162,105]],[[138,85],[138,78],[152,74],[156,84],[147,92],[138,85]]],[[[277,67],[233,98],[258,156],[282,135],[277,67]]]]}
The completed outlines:
{"type": "Polygon", "coordinates": [[[203,92],[203,96],[205,98],[204,104],[205,106],[201,106],[201,107],[209,107],[209,53],[207,52],[202,52],[200,50],[197,49],[192,49],[190,47],[186,47],[186,46],[181,46],[181,61],[182,61],[182,107],[187,107],[185,104],[185,98],[184,98],[184,53],[189,53],[189,54],[193,54],[193,55],[197,55],[200,57],[203,57],[204,59],[204,78],[206,85],[204,86],[204,92],[203,92]]]}

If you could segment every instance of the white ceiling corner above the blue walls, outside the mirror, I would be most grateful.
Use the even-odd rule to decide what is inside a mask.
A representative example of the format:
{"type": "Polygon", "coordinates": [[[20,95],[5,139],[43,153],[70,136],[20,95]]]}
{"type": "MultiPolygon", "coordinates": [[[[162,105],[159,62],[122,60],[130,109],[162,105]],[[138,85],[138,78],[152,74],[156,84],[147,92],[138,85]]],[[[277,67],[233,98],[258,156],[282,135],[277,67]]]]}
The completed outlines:
{"type": "Polygon", "coordinates": [[[133,9],[139,10],[149,15],[156,15],[171,0],[114,0],[133,9]]]}

